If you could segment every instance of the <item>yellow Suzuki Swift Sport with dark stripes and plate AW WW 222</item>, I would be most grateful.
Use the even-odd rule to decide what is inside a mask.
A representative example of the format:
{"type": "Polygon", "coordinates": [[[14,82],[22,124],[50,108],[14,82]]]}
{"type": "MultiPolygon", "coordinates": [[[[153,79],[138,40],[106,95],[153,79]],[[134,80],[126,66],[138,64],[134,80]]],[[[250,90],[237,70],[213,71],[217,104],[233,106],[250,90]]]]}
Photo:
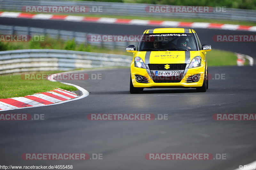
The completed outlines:
{"type": "Polygon", "coordinates": [[[128,45],[133,53],[130,93],[144,88],[208,89],[206,51],[211,45],[201,45],[196,32],[188,28],[156,28],[144,31],[138,49],[128,45]]]}

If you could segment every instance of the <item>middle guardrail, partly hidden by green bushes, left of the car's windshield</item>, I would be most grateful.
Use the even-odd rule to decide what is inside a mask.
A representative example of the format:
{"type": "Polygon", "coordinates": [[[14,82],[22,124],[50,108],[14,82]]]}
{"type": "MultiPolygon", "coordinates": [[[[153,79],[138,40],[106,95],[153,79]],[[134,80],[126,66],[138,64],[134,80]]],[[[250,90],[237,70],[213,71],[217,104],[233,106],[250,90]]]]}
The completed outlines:
{"type": "Polygon", "coordinates": [[[87,37],[90,35],[97,35],[92,33],[83,33],[75,31],[64,31],[57,29],[46,29],[46,28],[36,28],[36,27],[20,27],[20,26],[7,26],[0,25],[0,35],[44,35],[50,36],[52,38],[60,38],[63,40],[75,39],[76,43],[90,44],[97,47],[105,47],[108,49],[122,49],[130,44],[138,45],[138,42],[97,42],[97,41],[87,41],[87,37]]]}

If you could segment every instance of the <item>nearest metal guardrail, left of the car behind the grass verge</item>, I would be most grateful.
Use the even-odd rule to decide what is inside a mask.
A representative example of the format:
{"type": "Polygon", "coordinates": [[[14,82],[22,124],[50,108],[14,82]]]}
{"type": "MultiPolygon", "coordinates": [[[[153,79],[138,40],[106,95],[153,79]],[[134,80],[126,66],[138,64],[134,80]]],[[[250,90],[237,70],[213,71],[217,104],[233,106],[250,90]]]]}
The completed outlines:
{"type": "Polygon", "coordinates": [[[130,66],[131,56],[71,50],[0,51],[0,74],[130,66]]]}

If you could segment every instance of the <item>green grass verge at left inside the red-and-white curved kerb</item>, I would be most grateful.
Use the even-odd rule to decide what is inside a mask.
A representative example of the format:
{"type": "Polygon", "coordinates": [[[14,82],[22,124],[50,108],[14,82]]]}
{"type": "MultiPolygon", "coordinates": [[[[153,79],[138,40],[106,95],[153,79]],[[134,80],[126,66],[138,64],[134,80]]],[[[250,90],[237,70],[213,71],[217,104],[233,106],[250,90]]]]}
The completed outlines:
{"type": "MultiPolygon", "coordinates": [[[[41,72],[60,73],[60,72],[41,72]]],[[[0,98],[24,97],[56,88],[76,91],[76,87],[48,80],[22,80],[20,74],[0,76],[0,98]]]]}

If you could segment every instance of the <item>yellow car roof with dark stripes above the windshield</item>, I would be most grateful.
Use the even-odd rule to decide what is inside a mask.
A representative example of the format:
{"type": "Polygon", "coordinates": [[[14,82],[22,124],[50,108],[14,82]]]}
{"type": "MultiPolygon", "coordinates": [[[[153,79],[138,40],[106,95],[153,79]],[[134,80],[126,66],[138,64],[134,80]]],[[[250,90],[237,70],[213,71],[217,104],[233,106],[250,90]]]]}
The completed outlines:
{"type": "Polygon", "coordinates": [[[153,34],[153,33],[196,33],[195,30],[189,28],[155,28],[147,29],[143,34],[153,34]]]}

